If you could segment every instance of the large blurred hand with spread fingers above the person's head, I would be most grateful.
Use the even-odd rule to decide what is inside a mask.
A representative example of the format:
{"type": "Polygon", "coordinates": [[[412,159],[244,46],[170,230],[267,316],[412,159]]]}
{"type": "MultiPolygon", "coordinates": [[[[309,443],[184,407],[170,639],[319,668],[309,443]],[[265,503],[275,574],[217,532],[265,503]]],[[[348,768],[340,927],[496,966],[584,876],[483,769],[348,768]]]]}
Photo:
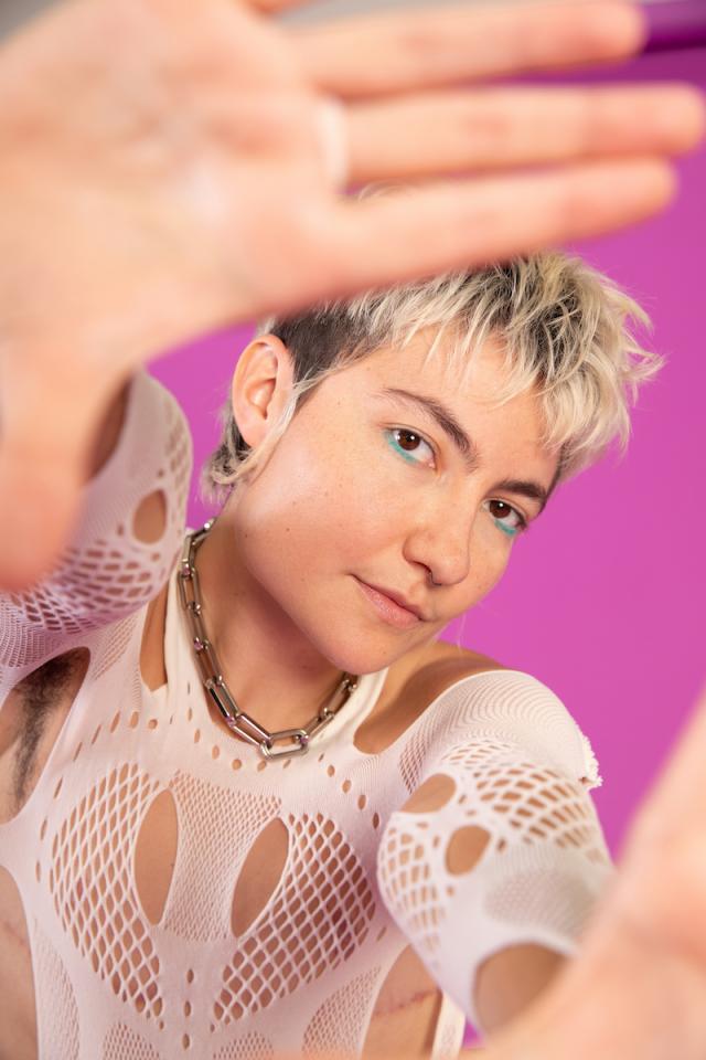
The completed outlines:
{"type": "Polygon", "coordinates": [[[72,0],[0,51],[0,586],[55,561],[148,356],[645,216],[700,134],[686,88],[459,87],[635,51],[622,2],[268,18],[291,6],[72,0]],[[331,96],[349,181],[405,194],[341,195],[331,96]]]}

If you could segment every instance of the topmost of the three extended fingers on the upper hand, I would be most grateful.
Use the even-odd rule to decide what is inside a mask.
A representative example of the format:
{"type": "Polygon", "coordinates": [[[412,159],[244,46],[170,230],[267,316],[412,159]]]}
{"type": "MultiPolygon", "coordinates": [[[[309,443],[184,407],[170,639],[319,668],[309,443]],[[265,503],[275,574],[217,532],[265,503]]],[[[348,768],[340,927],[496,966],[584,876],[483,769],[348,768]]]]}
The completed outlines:
{"type": "Polygon", "coordinates": [[[319,87],[361,98],[632,54],[644,15],[621,0],[445,7],[288,31],[319,87]]]}

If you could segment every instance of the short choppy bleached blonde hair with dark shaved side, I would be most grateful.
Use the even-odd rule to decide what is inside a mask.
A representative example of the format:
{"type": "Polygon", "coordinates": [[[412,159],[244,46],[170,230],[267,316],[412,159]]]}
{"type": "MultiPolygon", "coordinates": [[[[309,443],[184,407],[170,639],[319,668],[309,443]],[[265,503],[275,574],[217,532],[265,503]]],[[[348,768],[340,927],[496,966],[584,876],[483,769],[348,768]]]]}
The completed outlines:
{"type": "Polygon", "coordinates": [[[255,449],[240,437],[228,399],[221,413],[221,444],[202,471],[202,496],[223,502],[267,459],[307,395],[328,375],[383,347],[397,347],[402,358],[422,329],[436,330],[428,356],[450,337],[445,353],[461,369],[489,338],[501,340],[506,384],[498,401],[536,391],[543,443],[559,456],[555,483],[566,479],[597,460],[612,441],[624,449],[639,385],[662,364],[635,338],[649,325],[644,310],[608,277],[556,251],[271,317],[257,335],[276,335],[288,348],[295,368],[291,399],[255,449]]]}

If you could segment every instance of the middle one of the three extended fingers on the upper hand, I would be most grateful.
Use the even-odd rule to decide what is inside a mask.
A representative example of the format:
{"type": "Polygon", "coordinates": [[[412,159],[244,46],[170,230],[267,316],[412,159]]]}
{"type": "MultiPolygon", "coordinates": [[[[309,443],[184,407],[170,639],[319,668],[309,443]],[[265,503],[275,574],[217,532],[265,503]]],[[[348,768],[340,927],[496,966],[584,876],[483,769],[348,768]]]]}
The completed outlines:
{"type": "Polygon", "coordinates": [[[355,183],[605,155],[676,155],[704,132],[681,86],[428,93],[347,107],[355,183]]]}

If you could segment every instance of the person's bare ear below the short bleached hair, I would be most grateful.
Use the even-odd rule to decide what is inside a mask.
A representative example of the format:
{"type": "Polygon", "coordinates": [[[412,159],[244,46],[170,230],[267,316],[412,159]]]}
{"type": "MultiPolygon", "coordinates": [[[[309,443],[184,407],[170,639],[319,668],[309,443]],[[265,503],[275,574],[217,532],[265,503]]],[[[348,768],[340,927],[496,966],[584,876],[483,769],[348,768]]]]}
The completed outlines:
{"type": "Polygon", "coordinates": [[[285,410],[293,385],[291,354],[275,335],[258,335],[245,347],[233,374],[233,415],[245,442],[263,442],[285,410]]]}

